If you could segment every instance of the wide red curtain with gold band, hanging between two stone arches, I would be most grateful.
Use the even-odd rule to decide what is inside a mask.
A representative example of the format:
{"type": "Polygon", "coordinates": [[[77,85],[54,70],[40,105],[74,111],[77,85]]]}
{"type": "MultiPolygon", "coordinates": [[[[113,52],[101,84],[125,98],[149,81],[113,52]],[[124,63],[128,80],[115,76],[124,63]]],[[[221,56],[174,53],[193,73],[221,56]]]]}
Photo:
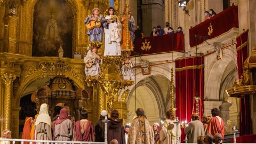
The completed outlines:
{"type": "MultiPolygon", "coordinates": [[[[191,114],[196,113],[194,97],[198,92],[201,98],[199,116],[203,117],[204,58],[190,57],[176,60],[175,68],[176,116],[180,121],[191,121],[191,114]]],[[[181,142],[184,142],[184,129],[181,131],[181,142]]]]}

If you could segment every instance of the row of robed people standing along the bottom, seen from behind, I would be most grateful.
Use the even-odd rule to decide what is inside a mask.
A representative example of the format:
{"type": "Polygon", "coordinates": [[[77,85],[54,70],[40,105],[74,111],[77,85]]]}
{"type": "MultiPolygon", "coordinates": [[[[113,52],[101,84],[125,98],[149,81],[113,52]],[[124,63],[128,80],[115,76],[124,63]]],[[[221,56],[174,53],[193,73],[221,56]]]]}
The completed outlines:
{"type": "MultiPolygon", "coordinates": [[[[56,140],[56,141],[105,141],[105,124],[100,119],[95,127],[87,119],[86,110],[81,111],[81,119],[77,122],[68,115],[68,110],[62,108],[55,121],[51,122],[48,114],[49,106],[41,105],[39,114],[27,117],[23,127],[22,139],[31,140],[56,140]],[[32,121],[33,120],[33,121],[32,121]]],[[[225,128],[223,119],[219,117],[220,110],[212,109],[212,117],[203,117],[202,122],[196,113],[191,115],[191,122],[184,129],[188,143],[222,143],[225,128]]],[[[109,115],[107,124],[108,143],[119,144],[170,144],[177,143],[177,137],[181,135],[180,125],[175,124],[175,114],[169,110],[162,125],[154,123],[150,125],[145,111],[138,108],[136,116],[130,125],[123,126],[123,119],[119,118],[118,111],[113,109],[109,115]],[[178,127],[177,127],[178,126],[178,127]]],[[[24,142],[28,144],[29,142],[24,142]]]]}

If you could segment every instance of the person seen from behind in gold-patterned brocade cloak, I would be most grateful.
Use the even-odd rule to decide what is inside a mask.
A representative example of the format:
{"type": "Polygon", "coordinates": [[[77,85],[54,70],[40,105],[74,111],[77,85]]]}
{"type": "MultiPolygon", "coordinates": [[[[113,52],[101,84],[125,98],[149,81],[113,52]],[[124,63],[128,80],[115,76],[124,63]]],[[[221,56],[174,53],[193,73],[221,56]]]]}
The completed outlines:
{"type": "Polygon", "coordinates": [[[128,134],[129,144],[154,144],[154,131],[145,116],[144,110],[136,110],[137,117],[132,120],[128,134]]]}

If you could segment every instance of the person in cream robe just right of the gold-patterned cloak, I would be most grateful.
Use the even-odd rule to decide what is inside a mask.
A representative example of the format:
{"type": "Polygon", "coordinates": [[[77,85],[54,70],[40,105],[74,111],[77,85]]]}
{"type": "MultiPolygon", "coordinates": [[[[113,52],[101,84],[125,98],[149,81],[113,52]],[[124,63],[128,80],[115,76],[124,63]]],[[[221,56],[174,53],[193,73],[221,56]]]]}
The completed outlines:
{"type": "Polygon", "coordinates": [[[177,143],[177,135],[180,137],[181,129],[178,126],[177,132],[177,125],[174,124],[175,122],[175,114],[172,111],[167,111],[166,119],[164,121],[162,130],[160,131],[159,137],[162,144],[175,144],[177,143]]]}

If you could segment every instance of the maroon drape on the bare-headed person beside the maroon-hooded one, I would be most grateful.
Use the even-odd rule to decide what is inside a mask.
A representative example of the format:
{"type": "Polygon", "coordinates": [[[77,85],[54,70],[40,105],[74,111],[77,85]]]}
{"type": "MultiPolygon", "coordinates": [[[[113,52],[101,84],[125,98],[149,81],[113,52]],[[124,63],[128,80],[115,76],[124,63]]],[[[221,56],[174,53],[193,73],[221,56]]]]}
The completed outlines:
{"type": "Polygon", "coordinates": [[[93,141],[94,131],[92,122],[87,121],[86,126],[82,128],[81,122],[77,121],[75,124],[75,136],[76,141],[93,141]],[[84,129],[84,133],[82,133],[81,129],[84,129]]]}

